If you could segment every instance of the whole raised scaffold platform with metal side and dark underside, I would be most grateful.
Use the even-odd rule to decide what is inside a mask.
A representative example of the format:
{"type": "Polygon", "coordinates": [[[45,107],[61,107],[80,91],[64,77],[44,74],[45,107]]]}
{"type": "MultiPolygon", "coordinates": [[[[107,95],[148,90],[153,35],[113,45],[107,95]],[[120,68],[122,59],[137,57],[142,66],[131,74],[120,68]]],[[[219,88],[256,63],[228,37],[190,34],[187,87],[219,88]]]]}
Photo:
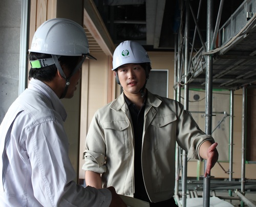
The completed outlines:
{"type": "Polygon", "coordinates": [[[256,88],[256,0],[244,1],[219,29],[219,45],[194,56],[191,87],[204,87],[206,62],[212,55],[212,87],[237,90],[256,88]],[[197,66],[196,66],[197,65],[197,66]]]}

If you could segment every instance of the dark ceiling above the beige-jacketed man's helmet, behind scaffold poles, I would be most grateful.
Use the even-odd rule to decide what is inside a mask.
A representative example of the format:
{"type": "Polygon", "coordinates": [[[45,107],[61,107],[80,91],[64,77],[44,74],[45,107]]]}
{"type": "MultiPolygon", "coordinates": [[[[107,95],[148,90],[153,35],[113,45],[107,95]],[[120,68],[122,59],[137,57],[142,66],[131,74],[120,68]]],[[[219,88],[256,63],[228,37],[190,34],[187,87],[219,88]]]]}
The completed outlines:
{"type": "MultiPolygon", "coordinates": [[[[174,34],[179,31],[184,4],[180,0],[94,0],[102,20],[110,33],[114,44],[124,40],[136,40],[149,50],[174,50],[174,34]]],[[[243,0],[229,0],[223,5],[221,25],[241,5],[243,0]]],[[[197,15],[199,0],[189,1],[197,15]]],[[[206,36],[206,5],[202,1],[199,26],[206,36]]],[[[217,18],[219,1],[215,1],[214,14],[217,18]]],[[[184,24],[184,22],[183,22],[184,24]]],[[[191,17],[191,37],[194,35],[195,23],[191,17]]],[[[206,39],[205,39],[206,40],[206,39]]],[[[197,47],[201,47],[198,41],[197,47]]]]}

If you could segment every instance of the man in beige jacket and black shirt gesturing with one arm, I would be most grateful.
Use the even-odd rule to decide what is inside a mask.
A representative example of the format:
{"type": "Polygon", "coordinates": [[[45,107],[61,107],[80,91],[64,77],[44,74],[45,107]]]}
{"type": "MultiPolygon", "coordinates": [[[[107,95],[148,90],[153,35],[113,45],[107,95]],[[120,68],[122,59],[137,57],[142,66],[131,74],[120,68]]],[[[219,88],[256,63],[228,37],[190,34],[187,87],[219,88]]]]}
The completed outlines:
{"type": "Polygon", "coordinates": [[[86,184],[114,186],[118,194],[150,206],[177,206],[176,141],[188,157],[207,160],[205,176],[218,160],[217,143],[179,102],[147,91],[151,61],[139,43],[120,43],[112,70],[123,93],[92,119],[84,153],[86,184]]]}

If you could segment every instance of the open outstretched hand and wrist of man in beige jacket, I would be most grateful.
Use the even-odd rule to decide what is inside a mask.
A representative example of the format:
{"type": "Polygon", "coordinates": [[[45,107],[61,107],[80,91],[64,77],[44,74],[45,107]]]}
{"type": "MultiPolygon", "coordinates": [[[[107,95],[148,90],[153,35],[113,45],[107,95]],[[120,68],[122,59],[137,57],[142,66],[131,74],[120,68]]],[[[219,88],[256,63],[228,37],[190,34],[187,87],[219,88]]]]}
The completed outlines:
{"type": "Polygon", "coordinates": [[[210,141],[205,141],[201,144],[199,148],[200,156],[207,160],[206,170],[204,176],[206,177],[207,174],[210,174],[210,170],[214,167],[215,163],[218,161],[219,153],[216,149],[218,143],[212,144],[210,141]]]}

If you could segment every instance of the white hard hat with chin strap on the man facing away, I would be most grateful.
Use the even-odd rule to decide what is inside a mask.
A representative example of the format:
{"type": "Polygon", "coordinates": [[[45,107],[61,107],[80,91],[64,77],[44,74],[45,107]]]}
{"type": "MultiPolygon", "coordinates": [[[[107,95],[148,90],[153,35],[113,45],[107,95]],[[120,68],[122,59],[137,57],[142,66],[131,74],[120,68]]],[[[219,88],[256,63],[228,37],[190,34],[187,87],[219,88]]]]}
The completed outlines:
{"type": "Polygon", "coordinates": [[[42,23],[34,34],[29,51],[52,56],[51,58],[32,60],[30,64],[31,68],[56,65],[61,76],[66,80],[65,89],[60,98],[65,97],[71,77],[80,69],[86,57],[96,60],[89,53],[87,36],[81,25],[64,18],[54,18],[42,23]],[[58,61],[60,56],[83,56],[83,58],[69,77],[66,77],[58,61]]]}

